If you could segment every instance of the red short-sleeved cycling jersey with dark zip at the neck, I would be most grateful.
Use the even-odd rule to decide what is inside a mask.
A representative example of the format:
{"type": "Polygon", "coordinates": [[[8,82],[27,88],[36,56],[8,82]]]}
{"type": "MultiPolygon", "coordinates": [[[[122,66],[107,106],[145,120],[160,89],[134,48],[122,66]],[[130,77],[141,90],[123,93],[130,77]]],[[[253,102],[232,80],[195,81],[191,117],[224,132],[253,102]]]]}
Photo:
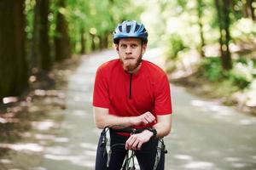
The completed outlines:
{"type": "Polygon", "coordinates": [[[166,73],[143,60],[139,71],[130,74],[125,72],[119,59],[110,60],[96,72],[93,105],[108,108],[109,114],[115,116],[139,116],[147,111],[155,117],[172,114],[166,73]]]}

